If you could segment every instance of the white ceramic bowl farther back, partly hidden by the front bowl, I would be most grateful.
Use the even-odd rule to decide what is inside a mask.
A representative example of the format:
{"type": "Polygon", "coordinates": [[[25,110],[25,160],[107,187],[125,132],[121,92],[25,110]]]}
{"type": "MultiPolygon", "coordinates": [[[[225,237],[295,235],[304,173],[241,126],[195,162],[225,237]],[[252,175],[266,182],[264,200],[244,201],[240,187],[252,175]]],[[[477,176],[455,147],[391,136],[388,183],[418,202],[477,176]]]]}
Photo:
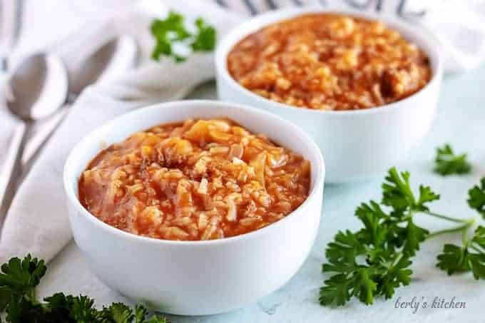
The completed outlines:
{"type": "MultiPolygon", "coordinates": [[[[237,26],[225,36],[215,54],[218,96],[261,108],[299,125],[312,136],[325,155],[326,180],[348,182],[376,175],[404,160],[432,125],[441,83],[441,60],[432,36],[392,16],[337,11],[341,14],[380,19],[417,43],[429,56],[432,80],[421,91],[402,101],[358,111],[315,111],[270,101],[240,86],[229,74],[227,56],[240,40],[269,24],[325,9],[272,11],[237,26]]],[[[333,11],[335,12],[335,11],[333,11]]]]}

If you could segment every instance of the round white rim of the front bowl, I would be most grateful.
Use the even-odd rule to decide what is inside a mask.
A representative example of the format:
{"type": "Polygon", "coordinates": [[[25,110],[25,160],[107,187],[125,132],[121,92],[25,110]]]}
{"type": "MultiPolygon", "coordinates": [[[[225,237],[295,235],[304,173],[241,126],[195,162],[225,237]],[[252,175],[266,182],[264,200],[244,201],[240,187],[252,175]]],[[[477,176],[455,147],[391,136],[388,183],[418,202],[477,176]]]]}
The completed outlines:
{"type": "MultiPolygon", "coordinates": [[[[237,122],[237,120],[235,121],[237,122]]],[[[95,156],[93,156],[93,158],[94,157],[95,156]]],[[[251,239],[252,237],[257,237],[258,235],[263,235],[271,230],[275,230],[280,225],[285,225],[285,223],[288,221],[288,218],[293,218],[297,216],[295,215],[295,213],[301,212],[302,209],[304,209],[310,203],[310,200],[314,200],[315,198],[319,198],[319,199],[323,198],[322,196],[319,196],[320,194],[318,192],[320,187],[322,187],[323,189],[324,180],[325,180],[325,160],[322,156],[322,152],[318,148],[315,141],[310,137],[310,135],[307,135],[307,133],[305,133],[305,131],[303,131],[301,128],[297,127],[293,123],[290,123],[290,121],[287,121],[284,118],[281,118],[279,116],[276,116],[275,114],[272,114],[266,111],[262,111],[257,108],[251,108],[249,106],[241,105],[238,103],[232,103],[228,101],[214,101],[214,100],[184,100],[184,101],[156,103],[150,106],[137,108],[136,110],[130,111],[128,113],[123,113],[121,116],[117,116],[111,121],[103,123],[101,126],[95,128],[87,135],[85,135],[81,140],[79,140],[78,143],[76,143],[76,145],[73,146],[73,148],[71,149],[71,152],[68,154],[68,157],[66,158],[66,162],[64,163],[64,168],[63,168],[63,188],[67,198],[66,202],[68,202],[71,206],[76,207],[76,211],[77,211],[76,216],[78,215],[78,213],[80,213],[81,216],[86,217],[88,221],[90,221],[93,225],[98,227],[100,230],[104,230],[110,235],[116,236],[120,239],[128,239],[132,241],[145,242],[145,243],[155,243],[158,245],[177,245],[177,246],[188,246],[188,247],[208,247],[211,245],[234,243],[245,239],[251,239]],[[102,133],[104,130],[108,128],[112,128],[117,123],[126,121],[126,119],[130,117],[131,118],[141,117],[143,116],[144,113],[146,113],[146,111],[160,110],[165,108],[177,108],[179,106],[193,106],[193,108],[197,108],[198,106],[206,106],[208,104],[213,106],[220,106],[222,108],[228,108],[228,109],[239,108],[245,111],[249,111],[249,113],[253,113],[258,118],[265,118],[269,122],[268,124],[271,124],[271,122],[283,123],[285,127],[292,129],[294,133],[297,133],[297,135],[299,135],[300,138],[310,146],[310,152],[315,154],[314,157],[317,160],[316,167],[315,165],[311,165],[312,169],[315,168],[315,171],[316,171],[316,182],[311,186],[310,193],[308,194],[306,200],[302,202],[302,204],[299,207],[297,207],[295,210],[290,212],[290,214],[288,214],[287,216],[283,217],[280,220],[277,220],[276,222],[272,222],[270,225],[267,225],[266,227],[253,230],[251,232],[247,232],[242,235],[236,235],[233,237],[224,237],[222,239],[215,239],[215,240],[180,241],[180,240],[163,240],[155,237],[143,237],[141,235],[136,235],[131,232],[120,230],[116,227],[112,227],[111,225],[108,225],[105,222],[99,220],[98,217],[92,215],[91,212],[86,210],[86,208],[83,207],[83,205],[81,205],[81,202],[78,199],[78,195],[75,193],[72,185],[73,180],[75,180],[76,183],[78,183],[78,178],[81,174],[77,174],[74,171],[74,169],[72,169],[73,166],[71,166],[71,164],[73,163],[73,159],[77,155],[77,151],[80,150],[84,145],[92,145],[92,144],[89,144],[89,142],[95,141],[96,140],[95,138],[97,137],[98,133],[102,133]]],[[[320,210],[319,217],[320,216],[321,216],[321,210],[320,210]]],[[[71,227],[71,230],[72,230],[72,227],[71,227]]]]}

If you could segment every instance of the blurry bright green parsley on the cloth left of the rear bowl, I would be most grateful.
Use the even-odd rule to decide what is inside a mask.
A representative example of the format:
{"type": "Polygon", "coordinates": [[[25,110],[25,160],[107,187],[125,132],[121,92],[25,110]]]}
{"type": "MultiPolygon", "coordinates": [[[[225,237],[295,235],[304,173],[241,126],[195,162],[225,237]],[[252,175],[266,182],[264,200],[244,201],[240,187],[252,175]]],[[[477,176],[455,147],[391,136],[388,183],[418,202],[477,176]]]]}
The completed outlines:
{"type": "Polygon", "coordinates": [[[160,60],[160,56],[169,56],[175,62],[185,61],[186,56],[177,50],[177,46],[190,48],[192,51],[213,51],[215,48],[216,31],[202,18],[195,20],[195,34],[185,28],[184,18],[181,14],[170,11],[165,19],[153,20],[150,31],[155,37],[155,47],[152,58],[160,60]]]}

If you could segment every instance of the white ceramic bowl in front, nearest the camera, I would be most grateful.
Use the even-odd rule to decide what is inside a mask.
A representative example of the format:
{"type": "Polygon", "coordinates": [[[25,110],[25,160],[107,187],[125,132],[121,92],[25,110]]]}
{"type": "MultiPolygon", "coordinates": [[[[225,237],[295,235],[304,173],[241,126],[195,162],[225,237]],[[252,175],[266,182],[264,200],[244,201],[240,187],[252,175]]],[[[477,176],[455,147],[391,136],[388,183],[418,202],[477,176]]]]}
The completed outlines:
{"type": "Polygon", "coordinates": [[[215,314],[237,309],[281,287],[313,245],[322,210],[325,165],[300,128],[254,108],[218,101],[164,103],[103,125],[68,156],[63,180],[76,244],[112,289],[151,309],[215,314]],[[181,242],[132,235],[101,222],[78,200],[78,178],[106,144],[160,123],[227,117],[302,154],[311,163],[310,195],[297,210],[260,230],[221,240],[181,242]]]}

